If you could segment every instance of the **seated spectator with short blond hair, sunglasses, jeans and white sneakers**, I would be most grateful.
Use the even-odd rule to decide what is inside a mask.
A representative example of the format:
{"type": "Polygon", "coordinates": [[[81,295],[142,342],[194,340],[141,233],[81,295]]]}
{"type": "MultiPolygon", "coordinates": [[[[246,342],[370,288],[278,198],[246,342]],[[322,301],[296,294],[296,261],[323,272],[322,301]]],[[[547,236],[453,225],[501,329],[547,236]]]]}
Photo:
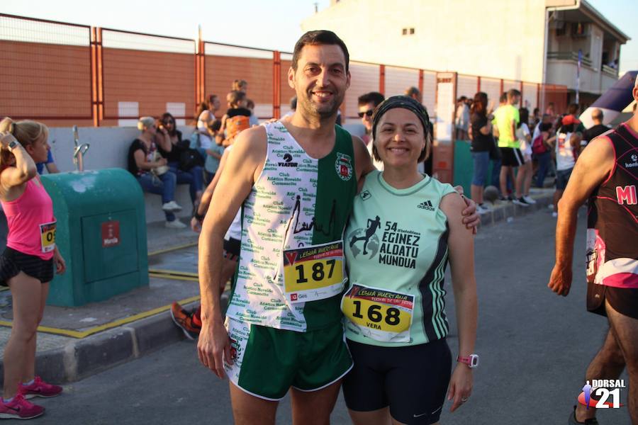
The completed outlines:
{"type": "MultiPolygon", "coordinates": [[[[157,152],[155,119],[140,118],[138,130],[142,134],[133,140],[128,148],[128,171],[135,176],[135,179],[138,179],[142,191],[162,196],[162,210],[166,216],[165,226],[183,229],[186,225],[174,215],[174,212],[181,210],[181,206],[177,205],[174,199],[177,176],[169,170],[167,160],[157,152]]],[[[170,152],[172,144],[166,129],[162,131],[162,136],[164,137],[157,137],[157,141],[162,145],[162,149],[170,152]]]]}

